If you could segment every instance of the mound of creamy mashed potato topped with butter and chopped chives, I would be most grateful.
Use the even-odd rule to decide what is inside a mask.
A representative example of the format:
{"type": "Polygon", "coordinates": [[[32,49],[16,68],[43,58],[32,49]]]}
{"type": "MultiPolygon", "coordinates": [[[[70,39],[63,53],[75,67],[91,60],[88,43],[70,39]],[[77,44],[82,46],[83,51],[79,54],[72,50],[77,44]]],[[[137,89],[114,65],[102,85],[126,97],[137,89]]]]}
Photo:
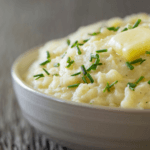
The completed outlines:
{"type": "Polygon", "coordinates": [[[150,109],[149,15],[101,21],[46,43],[25,80],[64,100],[150,109]]]}

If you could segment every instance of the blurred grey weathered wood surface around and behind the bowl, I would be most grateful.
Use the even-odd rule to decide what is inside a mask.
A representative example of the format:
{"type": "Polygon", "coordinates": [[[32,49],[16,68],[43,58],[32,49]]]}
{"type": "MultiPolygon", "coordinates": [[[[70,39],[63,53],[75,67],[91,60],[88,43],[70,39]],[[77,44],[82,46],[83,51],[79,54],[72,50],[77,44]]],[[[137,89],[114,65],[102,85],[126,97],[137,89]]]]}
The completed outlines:
{"type": "Polygon", "coordinates": [[[10,69],[26,50],[114,16],[147,12],[148,0],[0,0],[0,150],[69,150],[22,117],[10,69]]]}

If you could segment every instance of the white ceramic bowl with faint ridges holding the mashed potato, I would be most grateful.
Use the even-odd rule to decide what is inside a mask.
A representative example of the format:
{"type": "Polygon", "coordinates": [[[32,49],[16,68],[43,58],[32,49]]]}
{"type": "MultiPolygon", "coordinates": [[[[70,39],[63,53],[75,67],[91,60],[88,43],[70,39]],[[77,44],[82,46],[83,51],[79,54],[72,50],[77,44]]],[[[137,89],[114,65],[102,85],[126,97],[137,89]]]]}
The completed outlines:
{"type": "Polygon", "coordinates": [[[121,109],[65,101],[34,90],[23,75],[38,48],[21,55],[12,66],[18,103],[37,130],[72,149],[150,149],[150,110],[121,109]]]}

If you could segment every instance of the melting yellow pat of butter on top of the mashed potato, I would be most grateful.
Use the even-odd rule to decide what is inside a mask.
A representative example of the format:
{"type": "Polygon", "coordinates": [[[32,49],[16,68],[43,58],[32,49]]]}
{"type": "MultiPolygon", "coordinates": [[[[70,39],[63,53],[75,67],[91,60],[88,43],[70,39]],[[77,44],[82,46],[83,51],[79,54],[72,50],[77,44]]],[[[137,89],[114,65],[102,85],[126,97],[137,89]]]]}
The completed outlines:
{"type": "Polygon", "coordinates": [[[150,50],[150,29],[137,27],[118,33],[110,39],[108,45],[111,46],[117,54],[122,55],[128,61],[132,61],[150,50]]]}

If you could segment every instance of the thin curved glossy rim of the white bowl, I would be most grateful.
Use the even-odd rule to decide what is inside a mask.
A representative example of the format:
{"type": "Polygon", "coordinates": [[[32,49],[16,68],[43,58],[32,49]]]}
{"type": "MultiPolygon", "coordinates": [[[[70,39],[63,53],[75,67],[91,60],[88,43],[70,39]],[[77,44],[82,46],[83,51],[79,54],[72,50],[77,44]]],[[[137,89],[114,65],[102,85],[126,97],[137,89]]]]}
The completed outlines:
{"type": "Polygon", "coordinates": [[[38,90],[35,90],[33,88],[31,88],[29,85],[27,85],[27,83],[25,83],[25,81],[23,81],[19,74],[17,73],[17,66],[19,64],[19,62],[21,61],[21,59],[25,56],[25,55],[29,55],[31,52],[37,51],[40,47],[42,47],[44,44],[36,46],[24,53],[22,53],[20,56],[18,56],[15,61],[12,64],[11,67],[11,76],[12,79],[19,84],[23,89],[29,91],[29,92],[33,92],[34,94],[37,94],[43,98],[46,99],[51,99],[55,102],[58,103],[63,103],[66,105],[71,105],[71,106],[76,106],[76,107],[83,107],[83,108],[87,108],[87,109],[95,109],[95,110],[107,110],[107,111],[112,111],[112,112],[125,112],[125,113],[150,113],[150,109],[137,109],[137,108],[121,108],[121,107],[109,107],[109,106],[100,106],[100,105],[89,105],[86,103],[78,103],[78,102],[73,102],[73,101],[67,101],[61,98],[57,98],[54,97],[52,95],[48,95],[46,93],[40,92],[38,90]]]}

